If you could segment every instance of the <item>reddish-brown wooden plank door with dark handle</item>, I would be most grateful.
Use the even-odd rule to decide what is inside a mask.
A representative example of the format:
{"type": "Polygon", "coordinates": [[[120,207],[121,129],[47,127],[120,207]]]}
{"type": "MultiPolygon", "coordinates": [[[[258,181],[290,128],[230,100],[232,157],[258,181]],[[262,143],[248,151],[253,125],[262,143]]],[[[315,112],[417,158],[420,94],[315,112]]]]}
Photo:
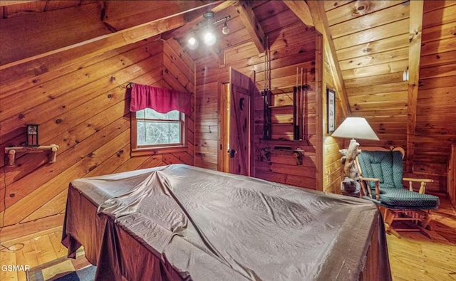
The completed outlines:
{"type": "Polygon", "coordinates": [[[237,70],[229,68],[229,72],[229,172],[250,176],[253,82],[237,70]]]}

